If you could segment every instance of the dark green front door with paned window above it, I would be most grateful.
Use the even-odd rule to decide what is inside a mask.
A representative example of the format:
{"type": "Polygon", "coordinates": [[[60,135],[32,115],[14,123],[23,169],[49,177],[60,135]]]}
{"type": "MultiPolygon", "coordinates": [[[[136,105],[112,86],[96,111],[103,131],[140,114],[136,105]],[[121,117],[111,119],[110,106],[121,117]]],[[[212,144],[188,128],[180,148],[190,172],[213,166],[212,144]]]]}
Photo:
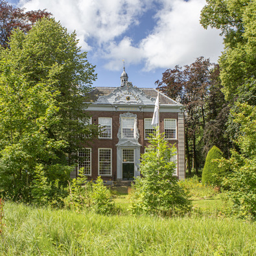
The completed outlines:
{"type": "Polygon", "coordinates": [[[134,180],[134,149],[122,150],[122,180],[134,180]]]}

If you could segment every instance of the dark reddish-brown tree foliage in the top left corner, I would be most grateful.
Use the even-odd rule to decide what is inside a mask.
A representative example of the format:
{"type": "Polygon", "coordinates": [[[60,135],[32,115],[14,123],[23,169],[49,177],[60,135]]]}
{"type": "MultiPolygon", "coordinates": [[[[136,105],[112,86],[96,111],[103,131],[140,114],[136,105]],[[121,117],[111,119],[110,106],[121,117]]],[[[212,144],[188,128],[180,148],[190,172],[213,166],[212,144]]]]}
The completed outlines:
{"type": "Polygon", "coordinates": [[[0,44],[8,47],[10,35],[14,29],[21,29],[27,33],[34,23],[42,17],[51,17],[50,12],[36,10],[24,12],[24,9],[14,8],[6,1],[0,0],[0,44]]]}

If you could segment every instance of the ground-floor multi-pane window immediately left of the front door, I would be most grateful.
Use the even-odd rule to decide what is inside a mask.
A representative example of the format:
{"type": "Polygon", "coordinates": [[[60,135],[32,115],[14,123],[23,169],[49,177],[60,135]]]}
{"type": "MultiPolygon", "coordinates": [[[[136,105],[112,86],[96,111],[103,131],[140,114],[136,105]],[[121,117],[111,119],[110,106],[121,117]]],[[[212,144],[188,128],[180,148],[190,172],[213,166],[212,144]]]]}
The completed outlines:
{"type": "Polygon", "coordinates": [[[111,148],[99,148],[99,175],[111,175],[111,148]]]}

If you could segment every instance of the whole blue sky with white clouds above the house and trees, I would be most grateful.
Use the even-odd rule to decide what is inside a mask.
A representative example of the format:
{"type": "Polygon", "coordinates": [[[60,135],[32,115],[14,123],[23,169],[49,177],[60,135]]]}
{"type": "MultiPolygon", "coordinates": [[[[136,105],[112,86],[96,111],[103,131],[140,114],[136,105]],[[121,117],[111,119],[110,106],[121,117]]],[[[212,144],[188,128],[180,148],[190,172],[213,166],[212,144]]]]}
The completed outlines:
{"type": "Polygon", "coordinates": [[[200,25],[205,0],[8,0],[28,10],[47,9],[68,32],[76,31],[93,86],[120,86],[125,65],[137,87],[156,87],[162,73],[204,56],[217,62],[223,51],[216,29],[200,25]],[[124,64],[123,64],[124,60],[124,64]]]}

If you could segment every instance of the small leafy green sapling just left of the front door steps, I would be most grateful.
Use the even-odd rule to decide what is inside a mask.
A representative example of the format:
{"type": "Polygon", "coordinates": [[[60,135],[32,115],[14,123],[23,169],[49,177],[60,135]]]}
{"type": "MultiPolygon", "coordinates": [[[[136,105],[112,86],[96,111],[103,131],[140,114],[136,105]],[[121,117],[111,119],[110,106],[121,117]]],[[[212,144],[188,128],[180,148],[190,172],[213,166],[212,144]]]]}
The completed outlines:
{"type": "Polygon", "coordinates": [[[95,183],[92,184],[91,190],[91,209],[95,213],[110,214],[115,210],[115,206],[111,200],[110,190],[104,185],[100,176],[95,183]]]}

